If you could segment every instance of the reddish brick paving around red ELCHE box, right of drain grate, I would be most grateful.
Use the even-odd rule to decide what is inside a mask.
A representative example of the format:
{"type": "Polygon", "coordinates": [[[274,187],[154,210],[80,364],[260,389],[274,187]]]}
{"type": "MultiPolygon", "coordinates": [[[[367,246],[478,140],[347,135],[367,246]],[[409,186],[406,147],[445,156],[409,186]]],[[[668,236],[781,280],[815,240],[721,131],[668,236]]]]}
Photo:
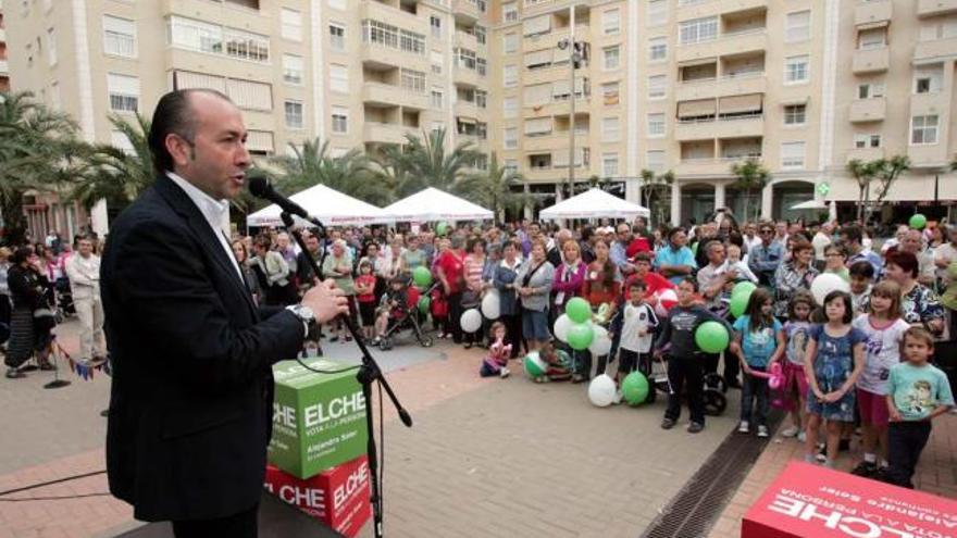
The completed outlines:
{"type": "MultiPolygon", "coordinates": [[[[790,422],[784,421],[782,427],[790,422]]],[[[795,439],[775,437],[761,453],[731,502],[725,506],[709,538],[738,538],[741,520],[765,489],[792,460],[804,460],[804,445],[795,439]]],[[[849,472],[859,461],[857,442],[852,452],[842,453],[837,468],[849,472]]],[[[946,414],[934,422],[934,429],[913,477],[917,489],[957,499],[957,415],[946,414]]]]}

